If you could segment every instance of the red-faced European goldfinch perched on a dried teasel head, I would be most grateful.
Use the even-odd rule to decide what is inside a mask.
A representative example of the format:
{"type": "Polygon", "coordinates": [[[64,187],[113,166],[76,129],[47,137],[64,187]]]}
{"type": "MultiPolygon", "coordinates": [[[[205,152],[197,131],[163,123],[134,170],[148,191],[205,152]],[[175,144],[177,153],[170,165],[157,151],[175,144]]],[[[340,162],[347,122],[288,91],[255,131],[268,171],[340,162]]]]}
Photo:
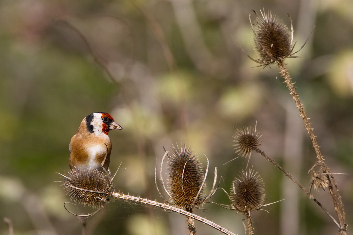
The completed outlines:
{"type": "Polygon", "coordinates": [[[69,146],[71,171],[108,168],[112,151],[112,142],[108,136],[110,129],[122,130],[122,127],[108,113],[91,113],[82,120],[69,146]]]}

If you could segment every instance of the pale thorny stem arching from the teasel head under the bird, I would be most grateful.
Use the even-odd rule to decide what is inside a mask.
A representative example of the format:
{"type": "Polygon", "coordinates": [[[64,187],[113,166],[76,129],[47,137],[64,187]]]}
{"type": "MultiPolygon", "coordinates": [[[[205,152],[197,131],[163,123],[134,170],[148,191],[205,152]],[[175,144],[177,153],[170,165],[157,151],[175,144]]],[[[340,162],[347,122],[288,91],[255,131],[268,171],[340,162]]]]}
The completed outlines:
{"type": "Polygon", "coordinates": [[[205,218],[203,218],[201,216],[192,214],[192,213],[187,212],[187,211],[185,211],[183,209],[176,208],[176,207],[168,205],[168,204],[159,203],[159,202],[152,201],[152,200],[149,200],[149,199],[135,197],[135,196],[130,196],[130,195],[126,195],[126,194],[122,194],[122,193],[118,193],[118,192],[113,192],[112,196],[115,197],[115,198],[119,198],[119,199],[125,199],[125,200],[128,200],[128,201],[141,203],[141,204],[148,204],[148,205],[157,206],[157,207],[160,207],[160,208],[163,208],[163,209],[166,209],[166,210],[178,212],[179,214],[188,216],[188,217],[196,219],[196,220],[198,220],[198,221],[200,221],[200,222],[202,222],[204,224],[207,224],[207,225],[219,230],[223,234],[235,235],[231,231],[223,228],[222,226],[220,226],[218,224],[215,224],[214,222],[209,221],[208,219],[205,219],[205,218]]]}

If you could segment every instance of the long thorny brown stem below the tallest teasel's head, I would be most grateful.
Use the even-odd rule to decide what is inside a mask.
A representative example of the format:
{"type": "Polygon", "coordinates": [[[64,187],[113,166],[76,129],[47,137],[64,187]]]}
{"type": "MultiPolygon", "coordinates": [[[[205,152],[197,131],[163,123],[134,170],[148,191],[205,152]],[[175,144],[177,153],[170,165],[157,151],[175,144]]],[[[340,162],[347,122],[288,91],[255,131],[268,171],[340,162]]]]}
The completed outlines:
{"type": "Polygon", "coordinates": [[[345,210],[343,208],[343,203],[342,203],[340,191],[338,190],[336,181],[335,181],[333,175],[330,174],[331,171],[326,166],[326,164],[324,162],[323,156],[322,156],[322,154],[320,152],[320,149],[319,149],[320,147],[319,147],[319,145],[317,144],[317,141],[316,141],[316,136],[314,135],[314,132],[313,132],[313,128],[311,127],[311,124],[309,122],[309,118],[306,116],[306,112],[304,110],[304,106],[300,102],[299,95],[298,95],[297,91],[295,90],[295,87],[294,87],[294,84],[292,82],[291,76],[289,75],[285,64],[282,61],[277,62],[277,64],[278,64],[278,67],[280,69],[281,75],[282,75],[282,77],[285,80],[284,82],[287,85],[287,87],[288,87],[288,89],[290,91],[290,94],[293,96],[295,104],[297,105],[297,108],[299,110],[300,116],[303,118],[303,121],[304,121],[304,124],[305,124],[305,129],[308,131],[308,134],[310,136],[310,140],[311,140],[312,145],[313,145],[313,147],[315,149],[316,157],[318,159],[319,165],[321,166],[322,172],[323,173],[327,173],[327,176],[329,178],[329,187],[328,187],[329,188],[329,193],[330,193],[332,202],[334,204],[337,217],[338,217],[338,219],[340,221],[340,226],[339,226],[340,233],[339,234],[346,234],[347,233],[347,231],[346,231],[347,230],[346,214],[345,214],[345,210]],[[337,196],[335,194],[335,191],[334,191],[333,187],[335,187],[337,196]],[[337,202],[337,198],[338,198],[338,202],[337,202]]]}

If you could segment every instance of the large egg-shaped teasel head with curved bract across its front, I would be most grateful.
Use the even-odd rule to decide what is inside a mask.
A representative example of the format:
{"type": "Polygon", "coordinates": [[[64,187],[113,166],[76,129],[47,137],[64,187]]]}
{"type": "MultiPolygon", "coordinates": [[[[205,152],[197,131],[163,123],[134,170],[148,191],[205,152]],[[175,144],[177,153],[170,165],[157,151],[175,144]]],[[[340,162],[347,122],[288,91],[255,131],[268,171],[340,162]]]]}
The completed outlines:
{"type": "Polygon", "coordinates": [[[168,153],[167,165],[170,200],[173,205],[192,212],[205,197],[204,188],[200,191],[205,177],[201,162],[184,144],[180,148],[178,145],[176,148],[173,146],[173,151],[168,153]]]}

